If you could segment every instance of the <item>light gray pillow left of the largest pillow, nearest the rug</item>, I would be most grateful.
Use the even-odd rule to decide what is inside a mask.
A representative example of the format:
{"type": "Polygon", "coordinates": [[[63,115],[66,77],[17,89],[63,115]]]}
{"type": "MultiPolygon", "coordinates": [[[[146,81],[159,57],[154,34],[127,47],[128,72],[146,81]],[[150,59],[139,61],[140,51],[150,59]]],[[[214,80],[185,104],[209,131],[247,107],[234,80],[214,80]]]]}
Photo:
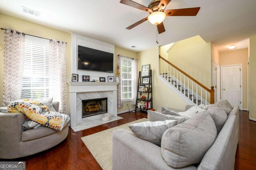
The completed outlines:
{"type": "Polygon", "coordinates": [[[176,120],[166,121],[145,121],[129,125],[131,131],[140,139],[150,141],[155,145],[161,145],[164,132],[177,124],[176,120]]]}

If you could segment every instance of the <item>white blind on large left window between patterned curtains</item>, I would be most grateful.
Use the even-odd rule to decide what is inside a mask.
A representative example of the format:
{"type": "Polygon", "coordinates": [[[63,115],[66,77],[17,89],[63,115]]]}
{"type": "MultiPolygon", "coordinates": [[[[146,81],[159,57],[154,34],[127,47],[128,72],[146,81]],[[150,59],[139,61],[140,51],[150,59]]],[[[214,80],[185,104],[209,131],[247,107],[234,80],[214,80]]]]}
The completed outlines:
{"type": "Polygon", "coordinates": [[[49,98],[49,40],[26,35],[20,98],[49,98]]]}

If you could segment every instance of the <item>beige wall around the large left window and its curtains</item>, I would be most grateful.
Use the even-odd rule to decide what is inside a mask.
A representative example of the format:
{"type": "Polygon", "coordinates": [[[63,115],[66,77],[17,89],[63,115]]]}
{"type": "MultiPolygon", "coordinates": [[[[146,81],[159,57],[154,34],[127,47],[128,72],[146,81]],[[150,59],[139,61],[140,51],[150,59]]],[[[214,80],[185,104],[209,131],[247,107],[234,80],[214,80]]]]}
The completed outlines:
{"type": "MultiPolygon", "coordinates": [[[[58,39],[65,41],[66,45],[66,79],[70,80],[71,76],[71,33],[21,20],[4,14],[0,14],[0,27],[9,27],[17,31],[24,32],[38,37],[48,39],[58,39]]],[[[4,31],[0,30],[0,44],[4,45],[4,31]]],[[[0,106],[3,103],[3,74],[4,74],[4,51],[0,51],[0,106]]],[[[69,105],[68,105],[69,107],[69,105]]],[[[68,108],[70,110],[70,108],[68,108]]]]}

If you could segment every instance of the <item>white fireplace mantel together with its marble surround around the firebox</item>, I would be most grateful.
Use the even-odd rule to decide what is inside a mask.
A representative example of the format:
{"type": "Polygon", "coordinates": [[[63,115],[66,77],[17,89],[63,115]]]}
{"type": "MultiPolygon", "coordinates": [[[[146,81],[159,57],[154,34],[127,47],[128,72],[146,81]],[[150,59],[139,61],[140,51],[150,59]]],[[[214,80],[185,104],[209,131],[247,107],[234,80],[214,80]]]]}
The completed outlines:
{"type": "MultiPolygon", "coordinates": [[[[117,116],[116,82],[68,82],[71,127],[82,123],[82,100],[108,98],[108,113],[117,116]]],[[[90,119],[99,115],[90,116],[90,119]]]]}

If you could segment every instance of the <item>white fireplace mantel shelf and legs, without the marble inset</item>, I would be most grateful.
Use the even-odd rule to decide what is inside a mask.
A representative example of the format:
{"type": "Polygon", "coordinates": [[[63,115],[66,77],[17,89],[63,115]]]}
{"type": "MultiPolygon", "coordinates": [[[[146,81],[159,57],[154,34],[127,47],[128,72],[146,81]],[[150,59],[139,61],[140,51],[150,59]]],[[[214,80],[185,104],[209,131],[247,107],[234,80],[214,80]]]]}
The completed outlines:
{"type": "MultiPolygon", "coordinates": [[[[70,117],[71,127],[75,127],[80,120],[80,113],[78,114],[77,93],[90,93],[90,92],[111,92],[112,114],[117,116],[117,85],[118,82],[67,82],[70,94],[70,117]]],[[[82,113],[81,113],[82,114],[82,113]]],[[[81,118],[82,119],[82,118],[81,118]]]]}

